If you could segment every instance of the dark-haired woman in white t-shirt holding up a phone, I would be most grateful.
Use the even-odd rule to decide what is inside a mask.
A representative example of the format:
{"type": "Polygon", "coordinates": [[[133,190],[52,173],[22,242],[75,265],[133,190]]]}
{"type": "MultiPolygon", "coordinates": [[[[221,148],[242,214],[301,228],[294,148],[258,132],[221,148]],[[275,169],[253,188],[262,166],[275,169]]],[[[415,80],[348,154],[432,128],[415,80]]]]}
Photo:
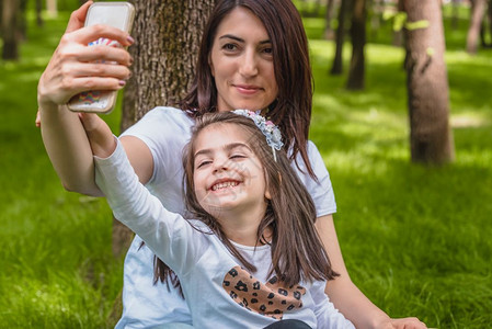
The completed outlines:
{"type": "MultiPolygon", "coordinates": [[[[107,37],[129,45],[133,39],[108,26],[81,29],[87,8],[72,14],[39,80],[38,103],[43,140],[66,189],[101,195],[87,135],[78,115],[65,104],[84,90],[119,89],[128,78],[130,57],[124,49],[94,54],[85,46],[90,41],[107,37]],[[91,64],[94,59],[118,65],[91,64]]],[[[286,144],[291,145],[293,166],[314,200],[317,229],[334,271],[341,274],[325,290],[335,307],[357,328],[425,328],[415,318],[390,319],[352,283],[333,225],[335,206],[329,175],[316,147],[307,144],[311,101],[307,39],[294,4],[288,0],[219,1],[204,32],[195,82],[182,102],[183,110],[195,111],[187,115],[176,109],[152,110],[121,140],[140,181],[158,197],[167,194],[161,201],[173,202],[163,201],[164,205],[183,214],[181,178],[176,174],[181,163],[170,158],[180,158],[193,116],[206,111],[265,110],[281,127],[286,144]],[[165,122],[165,131],[159,122],[165,122]],[[170,123],[173,129],[168,131],[170,123]],[[165,161],[167,166],[159,164],[165,161]]],[[[179,292],[169,292],[165,283],[152,285],[153,256],[146,247],[139,249],[140,241],[138,237],[134,240],[125,260],[125,309],[118,327],[190,322],[179,292]]]]}

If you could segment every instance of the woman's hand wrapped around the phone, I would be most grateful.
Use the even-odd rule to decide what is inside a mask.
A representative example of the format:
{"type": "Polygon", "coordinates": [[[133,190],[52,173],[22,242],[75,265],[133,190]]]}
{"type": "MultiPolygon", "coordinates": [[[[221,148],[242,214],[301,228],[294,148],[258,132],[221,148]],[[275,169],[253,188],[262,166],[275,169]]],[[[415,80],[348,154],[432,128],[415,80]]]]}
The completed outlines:
{"type": "Polygon", "coordinates": [[[82,91],[118,90],[129,77],[131,58],[124,48],[88,46],[100,37],[117,41],[122,46],[133,43],[128,33],[112,26],[83,27],[91,3],[87,2],[71,14],[67,30],[39,79],[37,98],[42,109],[66,104],[82,91]]]}

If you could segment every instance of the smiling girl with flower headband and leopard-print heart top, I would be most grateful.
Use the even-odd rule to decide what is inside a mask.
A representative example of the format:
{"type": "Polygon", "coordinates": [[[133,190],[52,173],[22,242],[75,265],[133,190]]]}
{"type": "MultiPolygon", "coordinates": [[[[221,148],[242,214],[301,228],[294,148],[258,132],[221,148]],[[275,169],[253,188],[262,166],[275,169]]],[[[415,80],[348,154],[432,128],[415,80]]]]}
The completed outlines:
{"type": "Polygon", "coordinates": [[[183,160],[196,218],[187,223],[138,182],[107,126],[88,131],[96,183],[115,217],[178,274],[197,328],[264,328],[281,319],[354,328],[324,294],[337,274],[278,128],[254,112],[233,112],[197,120],[183,160]]]}

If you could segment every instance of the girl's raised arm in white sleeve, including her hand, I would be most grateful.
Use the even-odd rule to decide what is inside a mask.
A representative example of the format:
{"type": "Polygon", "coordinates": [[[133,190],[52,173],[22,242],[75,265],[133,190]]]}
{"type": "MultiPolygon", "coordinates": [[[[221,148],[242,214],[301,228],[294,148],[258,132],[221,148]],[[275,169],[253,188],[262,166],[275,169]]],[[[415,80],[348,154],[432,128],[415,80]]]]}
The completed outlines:
{"type": "Polygon", "coordinates": [[[162,203],[138,181],[123,145],[107,125],[83,117],[94,151],[95,181],[104,192],[115,218],[140,236],[146,245],[178,275],[196,264],[207,243],[179,214],[162,203]],[[92,129],[94,128],[94,129],[92,129]]]}

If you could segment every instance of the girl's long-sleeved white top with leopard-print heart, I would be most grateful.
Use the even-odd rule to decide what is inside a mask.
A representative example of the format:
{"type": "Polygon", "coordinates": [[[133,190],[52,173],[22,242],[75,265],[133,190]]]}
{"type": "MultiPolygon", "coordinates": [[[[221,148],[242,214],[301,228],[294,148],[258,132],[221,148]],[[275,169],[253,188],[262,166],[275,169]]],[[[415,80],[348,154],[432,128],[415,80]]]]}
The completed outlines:
{"type": "Polygon", "coordinates": [[[115,217],[180,277],[196,328],[264,328],[279,319],[298,319],[313,329],[354,328],[328,299],[324,281],[286,287],[268,276],[270,246],[236,243],[259,269],[249,273],[205,224],[165,209],[139,183],[119,143],[95,163],[96,183],[115,217]]]}

